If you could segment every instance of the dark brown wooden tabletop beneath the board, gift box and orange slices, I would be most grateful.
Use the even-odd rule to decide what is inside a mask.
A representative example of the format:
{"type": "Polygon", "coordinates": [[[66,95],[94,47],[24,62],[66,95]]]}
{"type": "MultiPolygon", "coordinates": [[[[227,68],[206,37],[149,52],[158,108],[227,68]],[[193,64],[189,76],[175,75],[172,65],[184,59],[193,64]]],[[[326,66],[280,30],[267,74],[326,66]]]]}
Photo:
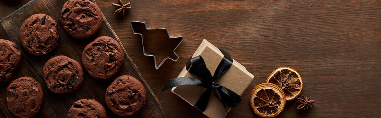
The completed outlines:
{"type": "MultiPolygon", "coordinates": [[[[28,1],[1,0],[0,19],[28,1]]],[[[286,102],[279,117],[380,117],[381,0],[129,0],[125,17],[113,14],[117,0],[95,1],[170,117],[205,117],[169,90],[160,92],[204,38],[255,76],[229,112],[233,118],[257,117],[249,94],[281,66],[296,69],[303,78],[301,94],[318,102],[309,111],[286,102]],[[184,36],[176,49],[180,59],[156,70],[131,20],[184,36]]]]}

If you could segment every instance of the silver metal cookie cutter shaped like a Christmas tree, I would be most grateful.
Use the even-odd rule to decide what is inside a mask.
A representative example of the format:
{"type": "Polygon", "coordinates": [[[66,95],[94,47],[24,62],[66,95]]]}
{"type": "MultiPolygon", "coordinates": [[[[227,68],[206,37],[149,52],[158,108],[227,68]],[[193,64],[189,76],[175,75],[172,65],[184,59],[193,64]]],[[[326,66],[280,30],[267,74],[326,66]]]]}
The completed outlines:
{"type": "Polygon", "coordinates": [[[165,28],[149,29],[146,23],[141,21],[131,21],[131,26],[133,33],[142,37],[143,54],[154,57],[156,69],[159,69],[166,59],[179,59],[175,49],[183,41],[183,36],[170,36],[165,28]]]}

